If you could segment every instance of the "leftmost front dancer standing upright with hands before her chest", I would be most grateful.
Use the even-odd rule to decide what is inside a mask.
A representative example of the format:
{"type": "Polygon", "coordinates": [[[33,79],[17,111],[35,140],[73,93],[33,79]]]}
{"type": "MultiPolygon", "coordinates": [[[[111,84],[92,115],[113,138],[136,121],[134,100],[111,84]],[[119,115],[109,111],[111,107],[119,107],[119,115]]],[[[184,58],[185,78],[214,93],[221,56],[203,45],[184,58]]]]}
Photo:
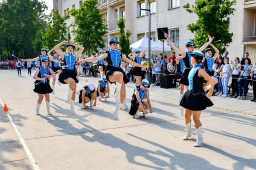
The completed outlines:
{"type": "Polygon", "coordinates": [[[39,115],[40,105],[44,99],[45,95],[45,102],[47,108],[47,114],[51,114],[50,112],[50,93],[52,93],[51,86],[49,84],[49,78],[55,77],[55,73],[52,69],[48,66],[48,58],[41,58],[42,66],[36,69],[36,72],[33,76],[35,79],[35,93],[38,94],[38,100],[36,104],[36,114],[39,115]],[[50,75],[51,73],[51,75],[50,75]]]}

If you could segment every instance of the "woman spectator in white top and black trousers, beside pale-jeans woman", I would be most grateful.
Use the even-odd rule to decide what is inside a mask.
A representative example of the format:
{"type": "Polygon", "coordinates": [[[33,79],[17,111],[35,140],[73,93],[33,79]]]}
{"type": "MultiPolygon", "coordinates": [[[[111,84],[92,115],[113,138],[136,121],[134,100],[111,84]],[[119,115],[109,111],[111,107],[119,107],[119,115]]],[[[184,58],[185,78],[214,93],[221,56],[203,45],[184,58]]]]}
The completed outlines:
{"type": "Polygon", "coordinates": [[[232,95],[230,97],[234,97],[237,98],[239,96],[239,89],[238,89],[238,82],[237,82],[237,78],[239,77],[239,69],[240,69],[240,59],[239,58],[235,58],[235,62],[233,63],[233,61],[231,61],[232,64],[232,95]],[[236,93],[236,96],[235,96],[236,93]]]}

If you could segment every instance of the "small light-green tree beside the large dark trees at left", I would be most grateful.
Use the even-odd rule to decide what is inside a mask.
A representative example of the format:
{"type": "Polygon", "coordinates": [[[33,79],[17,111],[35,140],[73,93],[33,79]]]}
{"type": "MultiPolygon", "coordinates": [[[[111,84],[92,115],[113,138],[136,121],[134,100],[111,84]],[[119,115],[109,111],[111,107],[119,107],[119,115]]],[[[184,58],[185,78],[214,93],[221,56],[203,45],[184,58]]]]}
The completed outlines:
{"type": "Polygon", "coordinates": [[[59,11],[54,8],[46,19],[47,29],[42,35],[44,39],[43,45],[46,49],[52,49],[55,45],[60,43],[54,40],[65,40],[67,33],[65,20],[69,19],[69,15],[61,17],[59,11]]]}

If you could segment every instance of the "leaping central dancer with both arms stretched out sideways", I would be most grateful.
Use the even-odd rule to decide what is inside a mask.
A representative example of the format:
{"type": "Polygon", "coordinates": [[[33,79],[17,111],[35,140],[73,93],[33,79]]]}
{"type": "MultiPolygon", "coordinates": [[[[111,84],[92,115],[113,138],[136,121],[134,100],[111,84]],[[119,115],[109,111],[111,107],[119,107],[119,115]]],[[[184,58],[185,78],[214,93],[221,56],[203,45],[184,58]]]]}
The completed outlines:
{"type": "Polygon", "coordinates": [[[113,112],[115,114],[115,120],[118,120],[118,111],[122,104],[124,104],[124,100],[126,98],[125,84],[129,82],[127,75],[125,74],[124,70],[120,67],[121,62],[124,60],[127,63],[130,63],[131,65],[140,66],[141,68],[147,68],[147,66],[139,65],[138,63],[135,63],[134,61],[131,61],[130,59],[126,58],[125,54],[122,54],[121,52],[117,51],[117,47],[117,39],[112,38],[109,40],[109,48],[111,50],[107,51],[100,57],[86,58],[79,61],[79,63],[84,63],[86,61],[95,62],[99,61],[100,59],[106,59],[106,63],[108,65],[106,66],[105,75],[111,84],[116,84],[115,96],[117,104],[113,112]]]}

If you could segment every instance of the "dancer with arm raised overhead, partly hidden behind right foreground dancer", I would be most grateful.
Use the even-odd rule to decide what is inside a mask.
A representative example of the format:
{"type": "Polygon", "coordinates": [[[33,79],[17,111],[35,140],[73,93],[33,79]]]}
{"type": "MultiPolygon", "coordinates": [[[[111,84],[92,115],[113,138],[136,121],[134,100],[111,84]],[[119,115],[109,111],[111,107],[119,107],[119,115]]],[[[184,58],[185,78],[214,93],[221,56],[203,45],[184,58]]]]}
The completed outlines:
{"type": "Polygon", "coordinates": [[[212,43],[210,43],[210,45],[215,50],[214,57],[212,58],[212,49],[207,48],[204,50],[205,57],[202,60],[205,72],[207,72],[211,76],[211,79],[212,79],[212,84],[210,84],[206,88],[206,90],[209,89],[209,91],[207,93],[207,97],[209,97],[209,98],[212,96],[214,85],[218,83],[218,79],[216,77],[214,77],[214,70],[212,69],[212,66],[214,64],[214,60],[217,59],[219,52],[220,52],[214,45],[212,45],[212,43]]]}

